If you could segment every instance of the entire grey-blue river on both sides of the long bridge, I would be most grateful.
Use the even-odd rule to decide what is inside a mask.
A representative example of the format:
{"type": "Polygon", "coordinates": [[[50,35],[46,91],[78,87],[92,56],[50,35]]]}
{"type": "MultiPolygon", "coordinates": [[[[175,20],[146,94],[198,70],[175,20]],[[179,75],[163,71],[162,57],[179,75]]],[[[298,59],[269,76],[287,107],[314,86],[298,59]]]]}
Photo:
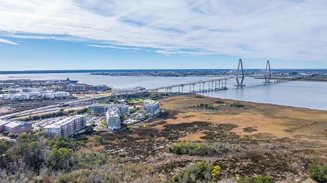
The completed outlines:
{"type": "MultiPolygon", "coordinates": [[[[31,80],[65,80],[67,75],[71,80],[89,85],[107,85],[114,88],[143,86],[147,89],[176,84],[198,82],[217,77],[154,77],[154,76],[109,76],[90,75],[89,73],[35,73],[35,74],[0,74],[0,80],[31,79],[31,80]]],[[[228,98],[260,103],[274,103],[284,106],[327,110],[326,82],[281,82],[264,84],[263,80],[245,77],[246,87],[235,87],[235,79],[227,80],[228,90],[201,93],[205,96],[228,98]]],[[[218,82],[217,82],[218,84],[218,82]]],[[[211,85],[211,84],[210,84],[211,85]]],[[[204,85],[208,88],[208,83],[204,85]]],[[[210,86],[211,88],[211,86],[210,86]]],[[[214,83],[215,88],[215,83],[214,83]]],[[[199,84],[195,90],[199,89],[199,84]]],[[[203,85],[201,84],[201,89],[203,85]]],[[[179,91],[189,92],[190,86],[180,87],[179,91]]],[[[191,87],[193,90],[193,86],[191,87]]],[[[165,90],[162,90],[165,91],[165,90]]],[[[177,92],[174,88],[173,92],[177,92]]]]}

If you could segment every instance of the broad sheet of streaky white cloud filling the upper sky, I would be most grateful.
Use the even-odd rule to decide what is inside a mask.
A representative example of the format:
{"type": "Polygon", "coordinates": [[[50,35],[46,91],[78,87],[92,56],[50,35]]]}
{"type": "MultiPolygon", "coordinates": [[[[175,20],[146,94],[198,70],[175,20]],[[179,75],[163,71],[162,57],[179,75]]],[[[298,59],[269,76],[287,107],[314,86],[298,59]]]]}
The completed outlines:
{"type": "Polygon", "coordinates": [[[325,60],[326,8],[309,0],[2,1],[0,36],[165,55],[325,60]]]}

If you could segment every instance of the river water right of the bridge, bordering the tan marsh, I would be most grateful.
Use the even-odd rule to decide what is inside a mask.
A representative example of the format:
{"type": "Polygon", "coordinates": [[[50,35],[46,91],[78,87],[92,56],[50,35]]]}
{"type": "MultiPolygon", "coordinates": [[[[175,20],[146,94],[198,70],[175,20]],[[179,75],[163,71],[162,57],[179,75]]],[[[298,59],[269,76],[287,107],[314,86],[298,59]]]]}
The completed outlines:
{"type": "MultiPolygon", "coordinates": [[[[231,84],[232,81],[227,81],[231,84]]],[[[245,77],[246,87],[231,85],[228,90],[207,92],[205,96],[228,98],[260,103],[274,103],[283,106],[327,110],[327,83],[288,81],[264,84],[262,80],[245,77]]]]}

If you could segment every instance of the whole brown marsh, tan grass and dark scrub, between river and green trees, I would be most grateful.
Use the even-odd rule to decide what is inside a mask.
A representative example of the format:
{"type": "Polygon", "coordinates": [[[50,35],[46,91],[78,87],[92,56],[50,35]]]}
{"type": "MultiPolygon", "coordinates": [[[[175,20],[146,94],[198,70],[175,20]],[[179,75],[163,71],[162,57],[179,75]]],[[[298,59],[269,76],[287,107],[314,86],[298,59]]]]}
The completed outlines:
{"type": "Polygon", "coordinates": [[[195,97],[195,94],[160,99],[164,114],[133,127],[133,132],[102,133],[110,143],[101,150],[131,158],[133,162],[159,168],[169,176],[189,163],[207,161],[221,166],[222,177],[272,176],[278,182],[308,178],[311,164],[327,164],[327,112],[272,104],[195,97]],[[198,109],[212,102],[214,109],[198,109]],[[222,155],[176,155],[165,149],[180,140],[224,142],[242,147],[241,152],[222,155]]]}

